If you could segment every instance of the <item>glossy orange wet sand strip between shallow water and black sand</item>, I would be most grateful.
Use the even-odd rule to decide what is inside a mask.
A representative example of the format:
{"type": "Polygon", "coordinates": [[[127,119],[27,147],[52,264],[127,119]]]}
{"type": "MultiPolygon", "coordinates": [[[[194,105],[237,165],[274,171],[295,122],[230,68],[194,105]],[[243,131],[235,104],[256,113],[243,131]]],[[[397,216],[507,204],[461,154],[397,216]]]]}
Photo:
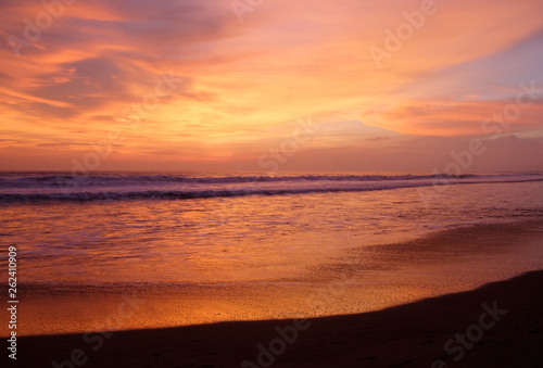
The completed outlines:
{"type": "Polygon", "coordinates": [[[356,248],[301,278],[276,284],[21,284],[20,317],[25,323],[17,333],[118,331],[380,310],[543,269],[542,230],[541,221],[482,225],[356,248]],[[519,265],[520,254],[533,265],[519,265]]]}

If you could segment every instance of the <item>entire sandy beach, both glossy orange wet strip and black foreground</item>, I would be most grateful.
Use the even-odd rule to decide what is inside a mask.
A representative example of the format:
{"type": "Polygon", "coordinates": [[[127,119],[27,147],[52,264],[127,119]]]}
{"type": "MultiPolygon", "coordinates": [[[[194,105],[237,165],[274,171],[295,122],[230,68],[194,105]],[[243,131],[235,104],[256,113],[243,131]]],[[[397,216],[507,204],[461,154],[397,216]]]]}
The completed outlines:
{"type": "Polygon", "coordinates": [[[542,229],[487,225],[356,248],[275,283],[23,284],[16,366],[538,367],[543,271],[481,285],[541,269],[542,229]],[[481,322],[485,308],[507,314],[481,322]],[[472,326],[478,338],[480,323],[493,327],[445,351],[472,326]]]}

